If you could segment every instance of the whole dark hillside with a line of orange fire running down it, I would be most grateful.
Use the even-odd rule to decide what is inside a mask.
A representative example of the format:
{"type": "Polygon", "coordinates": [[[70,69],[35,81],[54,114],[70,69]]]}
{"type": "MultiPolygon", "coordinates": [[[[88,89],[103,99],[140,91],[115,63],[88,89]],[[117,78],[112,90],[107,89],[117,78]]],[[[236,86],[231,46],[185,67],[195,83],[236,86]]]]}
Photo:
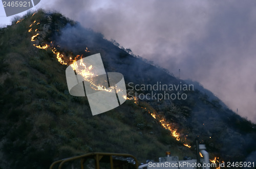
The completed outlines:
{"type": "Polygon", "coordinates": [[[256,125],[202,89],[180,91],[184,100],[126,100],[92,116],[87,97],[69,94],[65,70],[70,58],[96,53],[132,93],[152,92],[136,85],[189,85],[61,14],[27,13],[0,30],[0,168],[48,168],[88,152],[130,153],[140,162],[165,151],[195,158],[195,138],[211,159],[256,159],[256,125]]]}

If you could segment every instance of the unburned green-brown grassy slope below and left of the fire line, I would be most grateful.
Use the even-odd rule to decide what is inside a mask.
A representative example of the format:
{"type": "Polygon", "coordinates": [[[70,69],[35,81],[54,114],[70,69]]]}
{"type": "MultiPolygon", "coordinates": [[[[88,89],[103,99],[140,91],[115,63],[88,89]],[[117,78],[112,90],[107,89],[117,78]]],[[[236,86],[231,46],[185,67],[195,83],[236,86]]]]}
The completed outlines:
{"type": "Polygon", "coordinates": [[[72,21],[42,11],[32,15],[1,29],[1,168],[48,168],[54,160],[95,151],[144,161],[172,149],[182,157],[186,148],[132,100],[93,117],[86,97],[69,94],[67,66],[33,45],[50,43],[72,21]]]}

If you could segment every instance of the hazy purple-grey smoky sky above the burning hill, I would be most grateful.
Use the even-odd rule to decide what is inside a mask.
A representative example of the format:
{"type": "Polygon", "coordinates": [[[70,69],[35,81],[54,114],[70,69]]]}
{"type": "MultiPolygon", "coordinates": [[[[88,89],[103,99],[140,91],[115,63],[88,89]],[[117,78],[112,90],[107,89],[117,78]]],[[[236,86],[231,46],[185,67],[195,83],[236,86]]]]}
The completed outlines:
{"type": "Polygon", "coordinates": [[[41,0],[38,7],[79,21],[175,75],[180,69],[182,79],[199,81],[256,122],[256,1],[41,0]]]}

